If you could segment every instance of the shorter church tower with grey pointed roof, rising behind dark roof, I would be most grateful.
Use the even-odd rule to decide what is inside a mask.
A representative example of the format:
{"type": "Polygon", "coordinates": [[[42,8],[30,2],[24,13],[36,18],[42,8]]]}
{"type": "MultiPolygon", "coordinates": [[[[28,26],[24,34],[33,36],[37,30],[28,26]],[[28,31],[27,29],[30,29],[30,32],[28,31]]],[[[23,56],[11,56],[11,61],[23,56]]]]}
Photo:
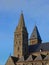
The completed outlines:
{"type": "Polygon", "coordinates": [[[35,25],[34,30],[33,30],[32,34],[30,36],[30,45],[38,44],[38,43],[41,43],[41,42],[42,42],[42,40],[41,40],[39,31],[38,31],[38,28],[35,25]]]}

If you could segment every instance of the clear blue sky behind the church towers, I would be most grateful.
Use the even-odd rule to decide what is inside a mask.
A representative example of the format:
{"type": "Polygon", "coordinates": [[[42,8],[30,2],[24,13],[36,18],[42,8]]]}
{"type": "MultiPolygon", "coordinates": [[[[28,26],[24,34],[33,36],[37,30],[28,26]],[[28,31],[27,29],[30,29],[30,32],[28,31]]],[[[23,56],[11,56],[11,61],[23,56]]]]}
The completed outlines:
{"type": "Polygon", "coordinates": [[[49,0],[0,0],[0,65],[13,55],[14,31],[22,10],[29,36],[36,24],[43,42],[49,41],[49,0]]]}

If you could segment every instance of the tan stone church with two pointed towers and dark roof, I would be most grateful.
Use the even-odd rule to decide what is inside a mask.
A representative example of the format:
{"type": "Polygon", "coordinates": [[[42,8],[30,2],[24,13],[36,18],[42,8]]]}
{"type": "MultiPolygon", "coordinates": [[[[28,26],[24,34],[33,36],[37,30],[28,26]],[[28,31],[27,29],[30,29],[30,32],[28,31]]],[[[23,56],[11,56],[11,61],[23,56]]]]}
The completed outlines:
{"type": "Polygon", "coordinates": [[[7,59],[5,65],[49,65],[49,42],[42,43],[36,25],[28,40],[23,13],[14,32],[13,56],[7,59]]]}

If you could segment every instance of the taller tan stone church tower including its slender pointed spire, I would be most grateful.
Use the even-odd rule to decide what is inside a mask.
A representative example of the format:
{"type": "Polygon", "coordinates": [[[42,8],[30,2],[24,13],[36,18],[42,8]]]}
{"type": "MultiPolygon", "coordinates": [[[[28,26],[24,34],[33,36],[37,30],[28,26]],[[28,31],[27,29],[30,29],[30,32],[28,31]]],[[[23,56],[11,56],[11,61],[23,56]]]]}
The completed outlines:
{"type": "Polygon", "coordinates": [[[21,58],[28,55],[28,32],[24,22],[23,13],[14,32],[14,56],[21,58]]]}

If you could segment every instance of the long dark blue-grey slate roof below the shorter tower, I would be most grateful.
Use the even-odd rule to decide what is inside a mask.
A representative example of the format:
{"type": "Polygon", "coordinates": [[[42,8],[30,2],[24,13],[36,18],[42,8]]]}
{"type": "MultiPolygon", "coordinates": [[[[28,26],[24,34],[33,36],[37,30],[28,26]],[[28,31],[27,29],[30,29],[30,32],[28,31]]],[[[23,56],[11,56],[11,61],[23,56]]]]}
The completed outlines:
{"type": "Polygon", "coordinates": [[[35,45],[29,45],[28,46],[29,53],[40,52],[40,50],[49,51],[49,42],[48,43],[41,43],[41,44],[35,44],[35,45]]]}

